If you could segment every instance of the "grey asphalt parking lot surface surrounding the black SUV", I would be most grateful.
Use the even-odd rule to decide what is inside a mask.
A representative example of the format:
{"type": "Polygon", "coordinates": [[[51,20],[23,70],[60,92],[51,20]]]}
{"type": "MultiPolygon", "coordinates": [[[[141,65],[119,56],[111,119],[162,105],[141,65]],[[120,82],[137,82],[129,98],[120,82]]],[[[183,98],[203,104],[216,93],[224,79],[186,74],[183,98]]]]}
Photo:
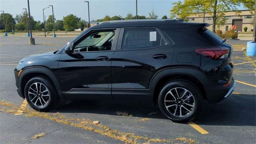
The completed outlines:
{"type": "Polygon", "coordinates": [[[189,124],[174,123],[157,106],[136,102],[66,102],[47,113],[32,110],[16,92],[16,64],[71,39],[35,37],[36,45],[28,45],[27,37],[0,36],[0,143],[256,143],[256,58],[243,51],[232,54],[233,94],[204,103],[189,124]]]}

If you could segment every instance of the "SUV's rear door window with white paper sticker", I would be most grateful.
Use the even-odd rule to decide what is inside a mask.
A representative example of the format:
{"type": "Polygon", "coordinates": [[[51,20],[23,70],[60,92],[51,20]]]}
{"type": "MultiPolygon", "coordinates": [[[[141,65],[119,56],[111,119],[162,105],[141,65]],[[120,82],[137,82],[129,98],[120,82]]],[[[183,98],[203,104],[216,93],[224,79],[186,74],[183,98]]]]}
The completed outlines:
{"type": "Polygon", "coordinates": [[[122,50],[146,49],[164,45],[162,37],[154,28],[126,28],[122,50]]]}

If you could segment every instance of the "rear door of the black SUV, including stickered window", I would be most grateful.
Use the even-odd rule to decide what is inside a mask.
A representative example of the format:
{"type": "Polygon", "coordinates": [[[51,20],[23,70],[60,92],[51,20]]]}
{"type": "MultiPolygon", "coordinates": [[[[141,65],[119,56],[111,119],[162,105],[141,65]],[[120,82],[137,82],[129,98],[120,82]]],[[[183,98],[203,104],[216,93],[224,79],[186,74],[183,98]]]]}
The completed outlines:
{"type": "Polygon", "coordinates": [[[122,28],[112,58],[114,100],[150,100],[150,82],[171,65],[173,47],[158,28],[122,28]]]}

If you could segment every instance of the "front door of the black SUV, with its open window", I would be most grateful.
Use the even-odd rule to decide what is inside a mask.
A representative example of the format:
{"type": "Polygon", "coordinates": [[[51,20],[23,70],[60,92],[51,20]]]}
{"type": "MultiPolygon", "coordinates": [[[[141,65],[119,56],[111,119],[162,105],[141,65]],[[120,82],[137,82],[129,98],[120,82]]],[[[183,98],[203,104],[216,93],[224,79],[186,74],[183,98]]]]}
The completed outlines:
{"type": "Polygon", "coordinates": [[[62,53],[60,87],[68,99],[112,100],[111,59],[120,29],[92,29],[62,53]]]}

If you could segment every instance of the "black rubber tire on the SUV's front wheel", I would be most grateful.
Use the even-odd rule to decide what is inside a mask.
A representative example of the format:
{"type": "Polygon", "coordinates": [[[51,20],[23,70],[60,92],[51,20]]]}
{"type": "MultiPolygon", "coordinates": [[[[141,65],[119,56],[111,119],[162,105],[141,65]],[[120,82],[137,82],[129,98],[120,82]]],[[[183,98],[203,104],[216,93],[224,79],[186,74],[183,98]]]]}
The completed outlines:
{"type": "MultiPolygon", "coordinates": [[[[33,89],[38,91],[36,89],[36,87],[34,87],[33,89]]],[[[33,90],[30,89],[30,92],[33,92],[33,90]]],[[[34,91],[34,93],[36,93],[36,92],[34,91]]],[[[48,111],[48,110],[52,109],[59,102],[58,94],[56,92],[54,84],[52,84],[51,80],[49,78],[47,78],[46,76],[36,76],[36,77],[33,77],[30,80],[28,80],[28,82],[26,83],[25,89],[24,89],[24,94],[25,94],[25,98],[28,101],[28,104],[31,106],[31,108],[33,108],[34,110],[37,110],[37,111],[48,111]],[[38,95],[34,95],[31,93],[28,94],[30,86],[32,86],[32,85],[36,86],[35,83],[38,83],[38,85],[42,84],[42,88],[44,88],[44,90],[46,90],[46,88],[47,88],[48,92],[44,93],[45,95],[49,94],[49,98],[48,97],[44,98],[44,100],[46,100],[46,103],[44,103],[42,100],[42,95],[44,95],[43,93],[38,94],[38,95]],[[39,101],[41,101],[41,103],[35,102],[35,100],[33,100],[33,98],[34,98],[33,96],[36,96],[36,97],[41,96],[40,97],[41,99],[39,97],[38,97],[39,99],[35,98],[35,99],[38,99],[39,101]],[[38,104],[38,106],[36,106],[34,103],[36,103],[36,105],[38,103],[39,104],[38,104]],[[40,106],[40,104],[42,104],[42,106],[40,106]],[[45,105],[43,106],[43,104],[45,104],[45,105]]]]}

